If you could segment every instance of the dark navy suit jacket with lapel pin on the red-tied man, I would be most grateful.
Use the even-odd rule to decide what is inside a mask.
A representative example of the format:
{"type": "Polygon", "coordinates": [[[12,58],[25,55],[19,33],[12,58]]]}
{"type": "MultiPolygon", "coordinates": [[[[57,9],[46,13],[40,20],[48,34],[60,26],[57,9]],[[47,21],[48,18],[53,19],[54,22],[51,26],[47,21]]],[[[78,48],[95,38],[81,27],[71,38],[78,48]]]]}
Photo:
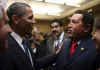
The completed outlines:
{"type": "Polygon", "coordinates": [[[89,37],[80,41],[73,56],[69,56],[71,40],[67,40],[56,59],[56,70],[92,70],[96,46],[89,37]]]}

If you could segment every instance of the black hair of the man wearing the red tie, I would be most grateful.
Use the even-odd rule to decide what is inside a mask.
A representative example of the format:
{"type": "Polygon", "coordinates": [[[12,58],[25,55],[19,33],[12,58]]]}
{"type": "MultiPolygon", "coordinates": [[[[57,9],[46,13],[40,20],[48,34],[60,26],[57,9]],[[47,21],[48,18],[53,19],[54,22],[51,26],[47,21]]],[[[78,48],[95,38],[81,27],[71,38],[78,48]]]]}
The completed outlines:
{"type": "Polygon", "coordinates": [[[88,28],[88,24],[90,24],[90,33],[93,30],[93,25],[94,25],[94,17],[93,14],[88,12],[87,10],[77,10],[74,14],[82,14],[82,22],[85,25],[85,27],[88,28]]]}

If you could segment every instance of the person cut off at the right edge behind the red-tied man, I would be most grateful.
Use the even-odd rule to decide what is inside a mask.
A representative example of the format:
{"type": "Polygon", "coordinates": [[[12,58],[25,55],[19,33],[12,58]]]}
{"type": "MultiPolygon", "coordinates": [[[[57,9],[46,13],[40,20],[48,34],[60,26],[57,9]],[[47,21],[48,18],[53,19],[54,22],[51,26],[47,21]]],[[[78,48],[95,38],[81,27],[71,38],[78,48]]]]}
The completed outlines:
{"type": "Polygon", "coordinates": [[[96,42],[96,49],[97,49],[97,54],[96,54],[96,61],[94,63],[94,70],[100,70],[100,19],[98,19],[94,25],[95,32],[93,34],[93,40],[96,42]]]}

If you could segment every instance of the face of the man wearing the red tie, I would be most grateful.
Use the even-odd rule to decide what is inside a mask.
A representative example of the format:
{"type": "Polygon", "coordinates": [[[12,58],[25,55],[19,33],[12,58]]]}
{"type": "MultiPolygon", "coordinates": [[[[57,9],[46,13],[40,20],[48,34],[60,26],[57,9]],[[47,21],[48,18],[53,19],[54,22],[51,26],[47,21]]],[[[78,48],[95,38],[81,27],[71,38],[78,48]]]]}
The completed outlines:
{"type": "Polygon", "coordinates": [[[82,23],[82,14],[73,14],[68,24],[68,34],[71,38],[80,38],[84,33],[84,26],[82,23]]]}

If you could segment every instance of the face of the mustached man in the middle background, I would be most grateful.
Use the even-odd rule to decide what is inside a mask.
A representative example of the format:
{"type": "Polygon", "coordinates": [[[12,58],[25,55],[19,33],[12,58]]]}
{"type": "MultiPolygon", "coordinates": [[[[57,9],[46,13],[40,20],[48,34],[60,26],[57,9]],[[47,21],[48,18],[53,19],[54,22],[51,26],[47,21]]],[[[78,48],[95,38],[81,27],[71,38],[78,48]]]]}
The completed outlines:
{"type": "Polygon", "coordinates": [[[51,31],[54,35],[59,36],[61,33],[61,26],[59,25],[59,23],[57,23],[57,22],[52,23],[51,31]]]}

